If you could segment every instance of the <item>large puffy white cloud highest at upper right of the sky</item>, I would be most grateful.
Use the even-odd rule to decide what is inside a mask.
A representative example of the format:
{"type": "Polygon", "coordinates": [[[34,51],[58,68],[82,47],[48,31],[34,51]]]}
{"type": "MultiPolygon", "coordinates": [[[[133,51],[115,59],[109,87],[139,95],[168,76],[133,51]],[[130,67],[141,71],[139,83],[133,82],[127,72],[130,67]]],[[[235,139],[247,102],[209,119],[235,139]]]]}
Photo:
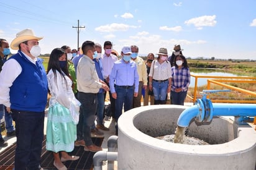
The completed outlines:
{"type": "Polygon", "coordinates": [[[214,27],[217,23],[216,15],[204,15],[201,17],[196,17],[190,20],[186,20],[186,25],[193,24],[194,27],[197,27],[199,30],[203,29],[203,27],[214,27]]]}

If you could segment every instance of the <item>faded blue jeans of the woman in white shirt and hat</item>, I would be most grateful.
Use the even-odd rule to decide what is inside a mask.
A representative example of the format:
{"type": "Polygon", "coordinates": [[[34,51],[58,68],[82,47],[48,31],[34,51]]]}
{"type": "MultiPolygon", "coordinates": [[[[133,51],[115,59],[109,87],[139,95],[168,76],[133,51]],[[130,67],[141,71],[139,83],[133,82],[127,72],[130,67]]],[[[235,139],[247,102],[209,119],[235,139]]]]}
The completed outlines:
{"type": "Polygon", "coordinates": [[[153,86],[153,95],[155,98],[155,101],[166,101],[167,97],[167,88],[168,88],[168,81],[165,82],[156,82],[153,80],[152,86],[153,86]]]}

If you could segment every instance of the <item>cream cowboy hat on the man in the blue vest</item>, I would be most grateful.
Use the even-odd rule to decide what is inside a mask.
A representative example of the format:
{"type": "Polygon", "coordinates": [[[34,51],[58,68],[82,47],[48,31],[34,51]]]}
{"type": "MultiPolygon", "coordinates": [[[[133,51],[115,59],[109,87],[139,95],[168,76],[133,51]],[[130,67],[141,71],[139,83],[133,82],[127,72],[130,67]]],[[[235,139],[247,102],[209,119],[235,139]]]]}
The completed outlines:
{"type": "Polygon", "coordinates": [[[25,29],[22,30],[21,32],[18,32],[16,34],[16,38],[14,38],[14,40],[12,40],[11,43],[11,48],[14,50],[19,49],[19,45],[25,41],[29,41],[29,40],[41,40],[43,37],[37,37],[35,36],[33,30],[30,29],[25,29]]]}

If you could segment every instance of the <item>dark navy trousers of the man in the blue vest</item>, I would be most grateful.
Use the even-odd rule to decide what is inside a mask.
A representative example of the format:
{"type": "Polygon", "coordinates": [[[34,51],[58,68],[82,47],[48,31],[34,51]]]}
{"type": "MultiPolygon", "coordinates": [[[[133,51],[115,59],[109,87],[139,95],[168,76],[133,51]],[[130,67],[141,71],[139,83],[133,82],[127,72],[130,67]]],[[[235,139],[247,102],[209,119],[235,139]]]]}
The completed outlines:
{"type": "Polygon", "coordinates": [[[17,136],[15,169],[39,169],[45,112],[11,111],[17,136]]]}

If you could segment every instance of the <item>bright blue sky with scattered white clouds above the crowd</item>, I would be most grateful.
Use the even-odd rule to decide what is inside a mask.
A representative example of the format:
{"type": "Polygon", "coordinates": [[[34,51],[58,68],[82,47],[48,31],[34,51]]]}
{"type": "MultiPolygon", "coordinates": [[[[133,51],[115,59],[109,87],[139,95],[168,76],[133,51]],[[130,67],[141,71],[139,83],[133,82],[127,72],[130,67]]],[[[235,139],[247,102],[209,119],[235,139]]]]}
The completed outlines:
{"type": "MultiPolygon", "coordinates": [[[[0,1],[0,37],[11,44],[16,33],[31,28],[42,54],[86,40],[109,40],[119,53],[124,45],[139,54],[158,53],[180,44],[186,57],[256,59],[255,0],[9,0],[0,1]]],[[[12,53],[16,51],[11,50],[12,53]]]]}

